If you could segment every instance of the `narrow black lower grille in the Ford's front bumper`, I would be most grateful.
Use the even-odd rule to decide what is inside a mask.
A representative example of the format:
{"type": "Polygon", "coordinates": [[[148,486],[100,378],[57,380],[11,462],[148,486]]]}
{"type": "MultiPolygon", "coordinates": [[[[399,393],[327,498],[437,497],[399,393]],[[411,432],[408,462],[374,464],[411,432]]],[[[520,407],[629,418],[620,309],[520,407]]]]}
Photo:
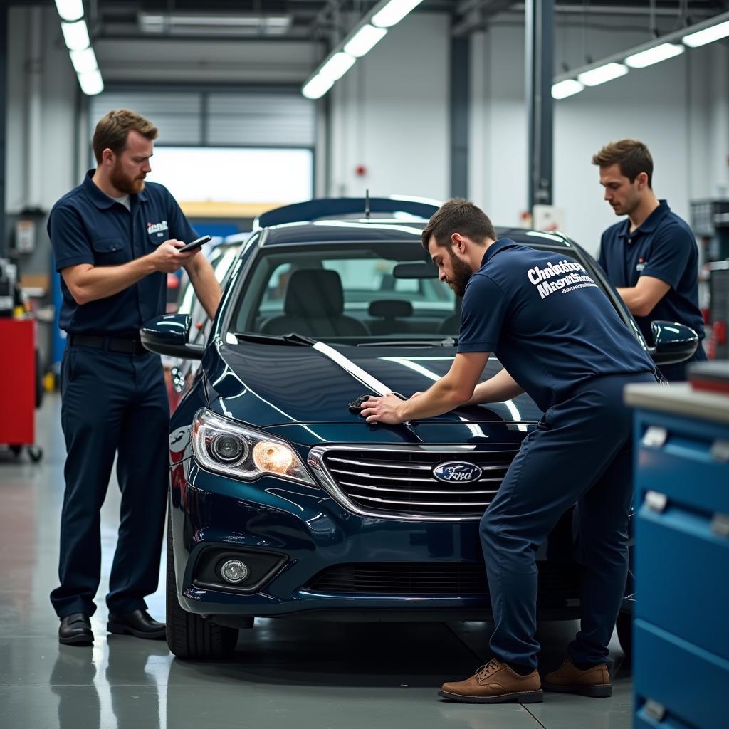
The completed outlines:
{"type": "MultiPolygon", "coordinates": [[[[583,569],[577,564],[540,562],[539,596],[580,596],[583,569]]],[[[338,564],[307,588],[329,595],[480,596],[488,594],[483,562],[397,562],[338,564]]]]}

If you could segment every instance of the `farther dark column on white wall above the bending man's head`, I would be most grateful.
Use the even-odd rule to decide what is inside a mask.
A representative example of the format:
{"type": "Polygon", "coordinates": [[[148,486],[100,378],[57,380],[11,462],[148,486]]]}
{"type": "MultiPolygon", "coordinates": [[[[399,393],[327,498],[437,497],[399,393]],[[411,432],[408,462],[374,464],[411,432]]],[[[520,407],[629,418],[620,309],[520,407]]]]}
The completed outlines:
{"type": "Polygon", "coordinates": [[[451,195],[468,197],[471,39],[451,36],[451,195]]]}

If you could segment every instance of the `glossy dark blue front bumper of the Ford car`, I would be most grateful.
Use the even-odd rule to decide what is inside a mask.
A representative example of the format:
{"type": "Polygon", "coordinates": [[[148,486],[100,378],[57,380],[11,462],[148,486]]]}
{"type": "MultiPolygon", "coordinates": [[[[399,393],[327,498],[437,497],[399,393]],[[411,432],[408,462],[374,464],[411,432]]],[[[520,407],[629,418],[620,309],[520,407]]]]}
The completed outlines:
{"type": "MultiPolygon", "coordinates": [[[[171,529],[176,592],[188,612],[327,620],[486,620],[491,615],[485,587],[433,594],[406,583],[399,591],[313,586],[321,585],[317,577],[328,569],[363,564],[436,566],[446,575],[467,565],[471,572],[483,570],[485,585],[477,521],[356,515],[318,486],[276,477],[246,483],[186,459],[173,468],[171,529]],[[252,580],[231,587],[214,574],[218,555],[243,561],[253,555],[262,567],[252,580]]],[[[579,580],[572,579],[569,564],[559,569],[569,575],[540,591],[540,614],[575,617],[579,580]]]]}

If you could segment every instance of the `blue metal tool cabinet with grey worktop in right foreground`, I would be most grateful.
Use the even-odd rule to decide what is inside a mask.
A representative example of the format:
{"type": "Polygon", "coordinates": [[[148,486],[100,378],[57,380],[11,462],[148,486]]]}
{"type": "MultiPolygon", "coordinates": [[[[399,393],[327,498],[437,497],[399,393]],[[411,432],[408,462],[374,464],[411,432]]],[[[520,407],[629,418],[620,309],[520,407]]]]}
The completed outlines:
{"type": "Polygon", "coordinates": [[[729,397],[634,385],[636,729],[729,727],[729,397]]]}

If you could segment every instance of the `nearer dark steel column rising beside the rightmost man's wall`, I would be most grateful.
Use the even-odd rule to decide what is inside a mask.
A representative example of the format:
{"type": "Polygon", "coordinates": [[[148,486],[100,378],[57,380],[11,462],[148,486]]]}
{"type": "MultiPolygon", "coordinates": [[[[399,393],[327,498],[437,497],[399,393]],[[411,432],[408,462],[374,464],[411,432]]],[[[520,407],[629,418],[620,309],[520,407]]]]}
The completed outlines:
{"type": "Polygon", "coordinates": [[[526,0],[526,107],[529,112],[529,211],[552,204],[554,0],[526,0]]]}

